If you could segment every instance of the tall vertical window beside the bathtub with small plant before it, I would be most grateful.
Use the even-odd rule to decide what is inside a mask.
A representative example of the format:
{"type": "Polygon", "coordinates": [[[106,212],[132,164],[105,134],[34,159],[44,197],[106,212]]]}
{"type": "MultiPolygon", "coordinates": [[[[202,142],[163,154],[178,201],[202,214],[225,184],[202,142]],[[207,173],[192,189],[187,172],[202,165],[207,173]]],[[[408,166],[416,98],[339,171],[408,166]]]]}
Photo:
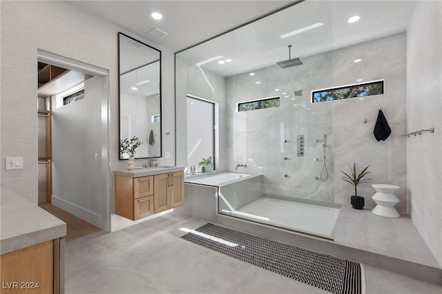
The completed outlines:
{"type": "Polygon", "coordinates": [[[215,118],[217,103],[196,96],[187,96],[187,174],[215,169],[215,118]]]}

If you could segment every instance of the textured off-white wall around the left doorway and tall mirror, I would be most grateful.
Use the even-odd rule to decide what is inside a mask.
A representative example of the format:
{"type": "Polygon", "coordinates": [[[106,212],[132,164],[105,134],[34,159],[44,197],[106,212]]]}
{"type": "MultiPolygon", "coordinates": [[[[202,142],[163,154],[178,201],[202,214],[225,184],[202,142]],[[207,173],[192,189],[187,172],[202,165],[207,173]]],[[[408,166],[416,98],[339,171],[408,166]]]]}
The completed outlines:
{"type": "MultiPolygon", "coordinates": [[[[1,172],[1,184],[37,204],[37,49],[110,71],[111,169],[124,169],[118,140],[118,32],[162,50],[163,155],[175,163],[174,56],[65,1],[1,1],[1,162],[23,156],[24,168],[1,172]],[[169,132],[169,136],[165,133],[169,132]]],[[[140,160],[143,164],[146,160],[140,160]]],[[[111,175],[109,175],[111,177],[111,175]]],[[[112,178],[111,178],[112,181],[112,178]]],[[[111,182],[111,187],[113,184],[111,182]]],[[[113,202],[113,189],[111,188],[113,202]]],[[[113,207],[111,208],[113,211],[113,207]]]]}

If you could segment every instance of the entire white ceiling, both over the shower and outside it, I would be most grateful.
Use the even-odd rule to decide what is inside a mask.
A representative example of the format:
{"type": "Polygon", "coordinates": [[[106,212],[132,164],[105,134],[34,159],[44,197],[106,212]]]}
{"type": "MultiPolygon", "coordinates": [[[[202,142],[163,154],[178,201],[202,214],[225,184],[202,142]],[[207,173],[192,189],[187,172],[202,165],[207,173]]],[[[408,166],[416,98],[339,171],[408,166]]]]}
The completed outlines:
{"type": "Polygon", "coordinates": [[[190,63],[220,76],[232,76],[274,65],[289,59],[287,45],[292,45],[291,58],[311,56],[382,36],[405,32],[415,1],[375,0],[306,0],[295,1],[69,1],[75,6],[108,19],[153,43],[173,52],[184,50],[214,36],[222,36],[180,53],[190,63]],[[280,8],[289,8],[271,14],[280,8]],[[151,12],[161,12],[155,21],[151,12]],[[124,13],[122,13],[124,12],[124,13]],[[271,15],[269,15],[271,14],[271,15]],[[348,23],[353,15],[357,23],[348,23]],[[262,19],[262,16],[268,15],[262,19]],[[249,25],[250,21],[259,19],[249,25]],[[318,28],[280,38],[314,23],[318,28]],[[240,28],[238,28],[240,27],[240,28]],[[160,39],[148,32],[158,28],[167,34],[160,39]],[[223,34],[233,28],[238,28],[223,34]],[[218,65],[207,62],[216,56],[233,62],[218,65]]]}

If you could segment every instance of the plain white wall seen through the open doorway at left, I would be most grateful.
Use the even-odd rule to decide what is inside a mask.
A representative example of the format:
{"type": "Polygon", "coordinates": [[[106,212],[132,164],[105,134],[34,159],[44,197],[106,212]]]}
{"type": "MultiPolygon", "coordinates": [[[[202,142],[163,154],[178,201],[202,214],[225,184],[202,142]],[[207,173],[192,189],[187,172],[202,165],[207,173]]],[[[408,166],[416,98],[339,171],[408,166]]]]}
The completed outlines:
{"type": "Polygon", "coordinates": [[[102,185],[102,78],[89,78],[84,90],[83,99],[52,109],[52,204],[102,227],[109,217],[102,185]]]}

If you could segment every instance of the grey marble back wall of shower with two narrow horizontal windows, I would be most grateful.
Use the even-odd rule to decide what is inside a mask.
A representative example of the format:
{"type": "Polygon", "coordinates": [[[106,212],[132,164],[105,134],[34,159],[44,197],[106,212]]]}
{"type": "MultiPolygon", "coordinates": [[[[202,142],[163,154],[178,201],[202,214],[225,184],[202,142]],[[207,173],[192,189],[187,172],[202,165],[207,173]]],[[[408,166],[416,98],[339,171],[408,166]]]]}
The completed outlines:
{"type": "MultiPolygon", "coordinates": [[[[348,169],[347,162],[356,162],[359,169],[370,165],[373,182],[401,187],[396,193],[401,200],[397,207],[407,211],[406,140],[402,136],[406,130],[405,39],[405,33],[395,34],[304,57],[304,65],[297,67],[273,65],[256,70],[255,76],[247,72],[227,78],[228,169],[247,164],[242,172],[262,174],[265,193],[347,204],[354,189],[342,180],[340,171],[348,169]],[[354,63],[358,58],[363,61],[354,63]],[[310,103],[311,90],[358,83],[357,78],[385,79],[385,94],[310,103]],[[302,96],[295,96],[296,90],[302,90],[302,96]],[[238,102],[271,96],[281,97],[280,107],[236,111],[238,102]],[[392,127],[392,135],[381,142],[372,134],[379,106],[392,127]],[[303,157],[296,153],[299,134],[305,138],[303,157]],[[326,181],[320,180],[325,134],[326,181]]],[[[374,207],[374,193],[368,184],[358,188],[367,207],[374,207]]]]}

